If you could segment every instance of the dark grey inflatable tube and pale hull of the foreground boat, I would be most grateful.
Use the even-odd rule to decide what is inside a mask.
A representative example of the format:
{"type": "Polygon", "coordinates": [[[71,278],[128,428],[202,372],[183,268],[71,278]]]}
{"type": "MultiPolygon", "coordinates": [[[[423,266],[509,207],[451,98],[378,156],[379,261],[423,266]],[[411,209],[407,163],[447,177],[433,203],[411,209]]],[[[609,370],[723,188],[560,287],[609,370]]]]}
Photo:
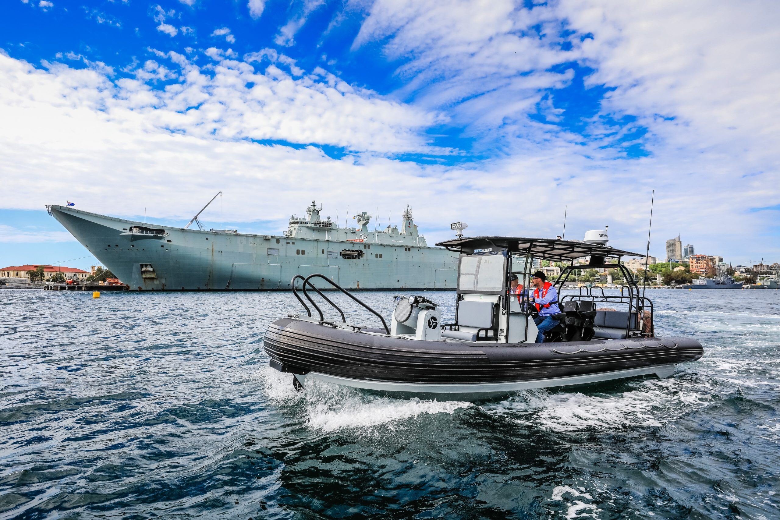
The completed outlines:
{"type": "Polygon", "coordinates": [[[465,399],[624,377],[668,377],[675,365],[704,354],[691,338],[424,341],[293,318],[268,325],[263,347],[271,367],[293,374],[304,387],[317,379],[398,397],[465,399]]]}

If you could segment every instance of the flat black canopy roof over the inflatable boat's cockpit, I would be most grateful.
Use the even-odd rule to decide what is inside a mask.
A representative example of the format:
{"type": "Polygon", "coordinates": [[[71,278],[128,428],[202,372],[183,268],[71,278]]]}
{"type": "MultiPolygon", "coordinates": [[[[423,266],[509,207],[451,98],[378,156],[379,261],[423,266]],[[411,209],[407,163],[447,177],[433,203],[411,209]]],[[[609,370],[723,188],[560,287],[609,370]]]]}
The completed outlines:
{"type": "Polygon", "coordinates": [[[631,253],[580,240],[529,239],[516,236],[470,236],[463,239],[445,240],[436,245],[444,246],[450,251],[466,254],[503,250],[510,253],[527,253],[556,262],[576,260],[583,256],[603,256],[605,258],[644,256],[642,253],[631,253]]]}

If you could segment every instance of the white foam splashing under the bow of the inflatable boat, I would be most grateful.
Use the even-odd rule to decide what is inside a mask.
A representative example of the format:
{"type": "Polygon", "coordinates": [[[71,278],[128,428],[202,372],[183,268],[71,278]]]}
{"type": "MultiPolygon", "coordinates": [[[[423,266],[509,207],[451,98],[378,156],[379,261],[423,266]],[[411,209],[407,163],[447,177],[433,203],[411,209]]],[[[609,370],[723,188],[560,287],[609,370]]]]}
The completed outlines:
{"type": "Polygon", "coordinates": [[[385,426],[394,430],[405,419],[424,414],[449,413],[472,406],[466,401],[396,399],[309,379],[303,391],[293,388],[292,376],[277,370],[261,370],[265,393],[279,404],[303,405],[307,426],[333,432],[385,426]]]}

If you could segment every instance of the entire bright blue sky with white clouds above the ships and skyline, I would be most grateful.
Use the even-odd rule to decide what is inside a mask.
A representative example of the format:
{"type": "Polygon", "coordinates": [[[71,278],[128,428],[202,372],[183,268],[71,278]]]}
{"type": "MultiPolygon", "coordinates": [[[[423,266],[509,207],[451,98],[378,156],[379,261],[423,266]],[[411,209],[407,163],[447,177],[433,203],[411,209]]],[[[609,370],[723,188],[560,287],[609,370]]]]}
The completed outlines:
{"type": "MultiPolygon", "coordinates": [[[[429,242],[610,226],[780,261],[777,2],[7,0],[0,264],[95,260],[46,203],[280,232],[316,199],[429,242]],[[8,195],[10,194],[10,195],[8,195]]],[[[0,266],[2,267],[2,266],[0,266]]]]}

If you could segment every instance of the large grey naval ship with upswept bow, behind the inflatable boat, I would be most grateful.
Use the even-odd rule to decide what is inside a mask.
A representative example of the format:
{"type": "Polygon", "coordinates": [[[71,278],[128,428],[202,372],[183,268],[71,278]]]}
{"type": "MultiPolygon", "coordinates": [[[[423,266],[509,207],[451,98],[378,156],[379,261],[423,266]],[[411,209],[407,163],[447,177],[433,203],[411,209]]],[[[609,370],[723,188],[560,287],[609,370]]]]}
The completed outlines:
{"type": "MultiPolygon", "coordinates": [[[[97,260],[137,291],[289,290],[296,274],[324,274],[349,289],[452,289],[457,255],[427,245],[407,206],[402,224],[369,231],[371,215],[339,228],[312,202],[281,235],[172,228],[47,206],[97,260]]],[[[205,209],[205,207],[204,207],[205,209]]],[[[201,210],[202,211],[202,210],[201,210]]],[[[199,213],[200,214],[200,213],[199,213]]],[[[189,225],[187,227],[189,227],[189,225]]]]}

